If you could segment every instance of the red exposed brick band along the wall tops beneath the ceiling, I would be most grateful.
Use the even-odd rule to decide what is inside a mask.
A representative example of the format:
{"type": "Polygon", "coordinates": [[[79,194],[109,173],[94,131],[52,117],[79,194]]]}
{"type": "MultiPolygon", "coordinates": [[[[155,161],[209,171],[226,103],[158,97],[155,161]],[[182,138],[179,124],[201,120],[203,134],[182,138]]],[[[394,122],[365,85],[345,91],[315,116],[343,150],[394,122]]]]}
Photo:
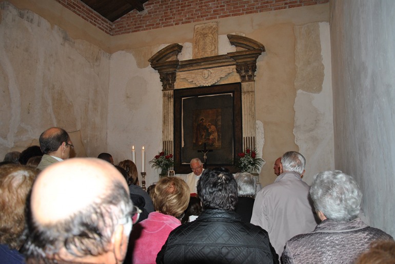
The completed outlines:
{"type": "Polygon", "coordinates": [[[111,23],[80,0],[56,1],[110,35],[329,2],[329,0],[149,0],[144,4],[144,11],[133,10],[111,23]]]}

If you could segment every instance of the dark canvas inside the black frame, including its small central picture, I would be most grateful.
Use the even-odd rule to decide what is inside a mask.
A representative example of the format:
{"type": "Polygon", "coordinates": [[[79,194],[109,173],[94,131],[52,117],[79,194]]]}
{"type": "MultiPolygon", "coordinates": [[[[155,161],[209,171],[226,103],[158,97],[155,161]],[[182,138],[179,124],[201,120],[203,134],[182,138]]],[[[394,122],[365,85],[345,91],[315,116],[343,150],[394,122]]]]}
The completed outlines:
{"type": "Polygon", "coordinates": [[[211,165],[229,162],[233,156],[233,95],[217,94],[182,100],[182,162],[204,158],[211,165]],[[222,131],[226,131],[223,133],[222,131]]]}

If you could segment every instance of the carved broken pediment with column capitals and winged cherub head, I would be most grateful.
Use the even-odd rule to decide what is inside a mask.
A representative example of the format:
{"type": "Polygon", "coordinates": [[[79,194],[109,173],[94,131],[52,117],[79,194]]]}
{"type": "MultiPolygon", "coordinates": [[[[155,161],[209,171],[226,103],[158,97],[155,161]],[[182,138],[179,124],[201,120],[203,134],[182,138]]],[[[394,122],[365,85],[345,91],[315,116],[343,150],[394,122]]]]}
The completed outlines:
{"type": "Polygon", "coordinates": [[[196,86],[210,86],[233,70],[240,75],[241,82],[253,81],[256,59],[265,51],[265,47],[245,36],[228,34],[227,37],[232,45],[245,50],[181,62],[177,59],[183,48],[180,44],[171,44],[156,52],[149,62],[160,73],[163,89],[174,89],[176,79],[185,79],[196,86]]]}

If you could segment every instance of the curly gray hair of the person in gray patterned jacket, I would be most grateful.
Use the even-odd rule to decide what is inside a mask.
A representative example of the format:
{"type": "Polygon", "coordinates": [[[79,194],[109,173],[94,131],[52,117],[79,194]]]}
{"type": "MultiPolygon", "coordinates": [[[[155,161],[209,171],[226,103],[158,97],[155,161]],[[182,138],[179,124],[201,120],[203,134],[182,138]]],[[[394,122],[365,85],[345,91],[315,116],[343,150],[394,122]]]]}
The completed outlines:
{"type": "Polygon", "coordinates": [[[341,171],[324,171],[314,175],[310,196],[315,210],[328,219],[349,221],[360,212],[362,192],[357,182],[341,171]]]}

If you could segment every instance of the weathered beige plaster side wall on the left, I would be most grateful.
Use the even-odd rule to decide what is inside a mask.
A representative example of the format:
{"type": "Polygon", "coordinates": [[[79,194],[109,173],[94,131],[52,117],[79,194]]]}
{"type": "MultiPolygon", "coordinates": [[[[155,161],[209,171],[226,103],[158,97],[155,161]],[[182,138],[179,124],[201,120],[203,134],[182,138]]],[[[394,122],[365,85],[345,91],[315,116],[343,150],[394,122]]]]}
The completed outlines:
{"type": "Polygon", "coordinates": [[[110,56],[45,18],[1,2],[0,157],[52,126],[105,146],[110,56]]]}

